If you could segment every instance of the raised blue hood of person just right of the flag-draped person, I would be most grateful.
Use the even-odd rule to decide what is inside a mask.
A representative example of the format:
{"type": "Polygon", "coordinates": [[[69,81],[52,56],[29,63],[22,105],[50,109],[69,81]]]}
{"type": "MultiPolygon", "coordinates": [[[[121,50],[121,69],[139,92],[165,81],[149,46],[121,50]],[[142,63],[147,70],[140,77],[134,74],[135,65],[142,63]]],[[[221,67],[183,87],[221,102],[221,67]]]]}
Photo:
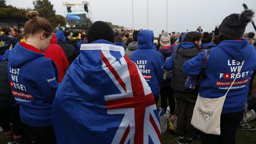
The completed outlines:
{"type": "Polygon", "coordinates": [[[154,42],[154,34],[150,30],[142,30],[138,35],[139,49],[152,49],[154,42]]]}

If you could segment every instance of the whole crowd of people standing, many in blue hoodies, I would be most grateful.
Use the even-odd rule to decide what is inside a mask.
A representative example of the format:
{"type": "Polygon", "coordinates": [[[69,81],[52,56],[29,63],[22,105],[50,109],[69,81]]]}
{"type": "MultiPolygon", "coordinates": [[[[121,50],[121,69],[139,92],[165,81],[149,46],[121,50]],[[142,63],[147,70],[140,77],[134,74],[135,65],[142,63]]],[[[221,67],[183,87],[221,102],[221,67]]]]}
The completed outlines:
{"type": "Polygon", "coordinates": [[[246,121],[247,109],[256,110],[256,39],[245,33],[250,9],[210,33],[200,26],[162,31],[157,42],[150,30],[113,30],[97,21],[89,30],[63,31],[37,11],[27,16],[24,28],[0,28],[0,126],[8,144],[162,143],[158,114],[147,112],[159,98],[177,121],[178,144],[235,144],[238,127],[256,130],[246,121]],[[189,78],[200,85],[189,87],[189,78]],[[198,97],[224,95],[220,135],[195,129],[195,109],[212,116],[195,107],[198,97]]]}

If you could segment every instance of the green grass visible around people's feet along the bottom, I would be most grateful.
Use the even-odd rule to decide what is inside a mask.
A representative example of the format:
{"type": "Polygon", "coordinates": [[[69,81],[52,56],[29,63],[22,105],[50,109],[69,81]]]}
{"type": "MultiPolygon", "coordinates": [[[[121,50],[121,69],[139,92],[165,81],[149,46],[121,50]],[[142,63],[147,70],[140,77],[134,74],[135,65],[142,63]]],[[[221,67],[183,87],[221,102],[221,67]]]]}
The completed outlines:
{"type": "MultiPolygon", "coordinates": [[[[160,100],[158,101],[158,108],[160,107],[160,100]]],[[[250,125],[256,126],[256,120],[249,122],[250,125]]],[[[176,134],[167,131],[162,135],[163,144],[178,144],[175,140],[176,134]]],[[[7,144],[4,133],[0,133],[0,144],[7,144]]],[[[200,140],[197,140],[194,144],[201,144],[200,140]]],[[[256,144],[256,131],[242,131],[237,129],[236,144],[256,144]]]]}

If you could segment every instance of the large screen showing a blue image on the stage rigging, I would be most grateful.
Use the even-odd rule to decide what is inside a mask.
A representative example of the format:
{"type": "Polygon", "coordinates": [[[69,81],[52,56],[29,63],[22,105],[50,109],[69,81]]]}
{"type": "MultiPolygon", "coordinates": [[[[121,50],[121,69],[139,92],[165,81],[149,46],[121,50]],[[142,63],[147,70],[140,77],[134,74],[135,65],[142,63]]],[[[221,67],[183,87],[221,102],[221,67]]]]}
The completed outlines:
{"type": "Polygon", "coordinates": [[[69,25],[87,24],[86,14],[83,13],[67,13],[67,22],[69,25]]]}

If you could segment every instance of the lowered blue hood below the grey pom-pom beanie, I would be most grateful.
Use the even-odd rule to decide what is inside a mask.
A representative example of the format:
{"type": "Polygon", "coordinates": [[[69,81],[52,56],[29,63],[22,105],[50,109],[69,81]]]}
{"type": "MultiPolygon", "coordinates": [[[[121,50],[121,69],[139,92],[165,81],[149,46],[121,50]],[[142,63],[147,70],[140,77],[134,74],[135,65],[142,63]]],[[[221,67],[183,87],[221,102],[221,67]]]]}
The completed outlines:
{"type": "Polygon", "coordinates": [[[252,47],[246,39],[242,39],[242,41],[224,40],[218,46],[237,61],[247,59],[251,54],[248,47],[252,47]]]}

